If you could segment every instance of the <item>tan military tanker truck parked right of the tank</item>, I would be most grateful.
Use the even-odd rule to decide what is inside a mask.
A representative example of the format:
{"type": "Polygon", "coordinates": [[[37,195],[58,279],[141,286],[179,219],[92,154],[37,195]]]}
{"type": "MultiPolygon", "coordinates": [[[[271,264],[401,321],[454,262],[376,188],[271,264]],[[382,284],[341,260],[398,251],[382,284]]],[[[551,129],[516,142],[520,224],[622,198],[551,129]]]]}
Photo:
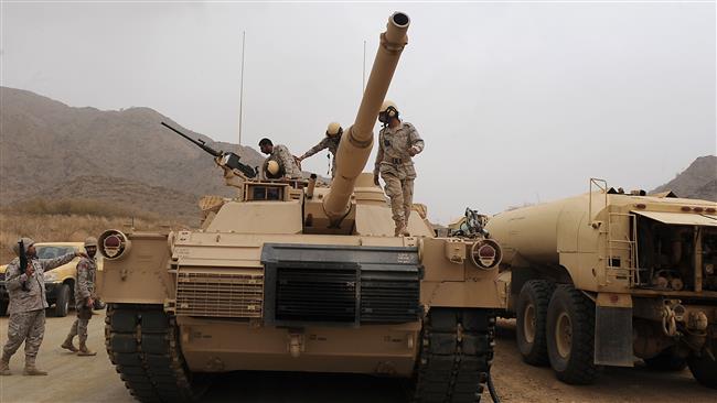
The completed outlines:
{"type": "Polygon", "coordinates": [[[524,361],[586,384],[636,356],[717,388],[717,204],[590,184],[488,222],[524,361]]]}

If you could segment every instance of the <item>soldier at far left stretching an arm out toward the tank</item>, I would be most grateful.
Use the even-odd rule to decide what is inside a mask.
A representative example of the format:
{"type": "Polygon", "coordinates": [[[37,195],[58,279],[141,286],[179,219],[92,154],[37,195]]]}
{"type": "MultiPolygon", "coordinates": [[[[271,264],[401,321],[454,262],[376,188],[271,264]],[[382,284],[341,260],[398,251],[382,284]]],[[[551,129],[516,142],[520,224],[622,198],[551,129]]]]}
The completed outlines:
{"type": "MultiPolygon", "coordinates": [[[[10,306],[8,313],[8,342],[2,349],[2,359],[0,359],[0,375],[9,375],[10,357],[12,357],[20,345],[25,342],[25,375],[46,375],[47,372],[41,371],[35,367],[38,350],[45,335],[45,308],[47,298],[45,296],[45,282],[43,273],[47,270],[55,269],[68,263],[75,257],[82,257],[84,253],[67,253],[55,259],[38,259],[34,241],[30,238],[22,238],[28,257],[28,269],[24,274],[20,274],[20,260],[14,259],[8,264],[6,272],[6,287],[10,294],[10,306]]],[[[15,243],[12,250],[20,257],[20,246],[15,243]]]]}

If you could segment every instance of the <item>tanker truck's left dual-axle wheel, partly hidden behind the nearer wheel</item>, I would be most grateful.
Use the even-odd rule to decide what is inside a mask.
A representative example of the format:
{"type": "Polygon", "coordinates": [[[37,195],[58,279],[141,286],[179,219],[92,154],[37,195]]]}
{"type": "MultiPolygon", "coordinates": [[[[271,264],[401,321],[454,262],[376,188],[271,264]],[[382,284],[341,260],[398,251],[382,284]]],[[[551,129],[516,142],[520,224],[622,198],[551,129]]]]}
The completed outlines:
{"type": "Polygon", "coordinates": [[[531,280],[523,285],[516,304],[515,339],[523,361],[532,366],[547,366],[545,322],[555,284],[546,280],[531,280]]]}

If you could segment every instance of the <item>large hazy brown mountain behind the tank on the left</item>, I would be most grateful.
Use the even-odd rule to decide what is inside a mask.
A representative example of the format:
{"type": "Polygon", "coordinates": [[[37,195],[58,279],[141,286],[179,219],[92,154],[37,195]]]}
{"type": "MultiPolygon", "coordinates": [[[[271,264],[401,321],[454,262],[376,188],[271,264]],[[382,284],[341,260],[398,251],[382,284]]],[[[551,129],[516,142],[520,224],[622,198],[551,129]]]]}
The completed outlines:
{"type": "MultiPolygon", "coordinates": [[[[233,194],[224,186],[222,171],[211,155],[160,122],[168,122],[217,150],[237,152],[237,145],[215,142],[182,128],[153,109],[74,108],[8,87],[0,87],[0,205],[38,193],[45,197],[66,193],[74,193],[76,198],[99,195],[109,192],[111,181],[116,179],[132,184],[127,186],[137,190],[137,197],[141,197],[139,189],[146,188],[142,186],[152,188],[150,193],[157,196],[161,194],[159,189],[167,188],[176,193],[168,192],[168,198],[183,195],[180,199],[186,195],[233,194]],[[83,185],[73,183],[79,177],[85,177],[83,185]],[[101,183],[105,179],[110,182],[101,183]]],[[[249,146],[239,148],[237,154],[250,166],[264,161],[249,146]]]]}

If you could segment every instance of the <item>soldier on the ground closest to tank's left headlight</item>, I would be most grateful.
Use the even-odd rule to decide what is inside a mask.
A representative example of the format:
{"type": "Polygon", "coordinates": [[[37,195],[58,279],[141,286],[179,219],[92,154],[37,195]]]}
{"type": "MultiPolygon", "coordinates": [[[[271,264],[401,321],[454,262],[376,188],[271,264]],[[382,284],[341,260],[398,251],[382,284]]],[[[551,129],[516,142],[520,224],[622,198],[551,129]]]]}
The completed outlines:
{"type": "Polygon", "coordinates": [[[97,273],[97,238],[89,237],[85,239],[85,251],[87,258],[83,258],[77,263],[77,281],[75,282],[75,311],[77,319],[72,325],[69,334],[62,348],[77,352],[77,356],[95,356],[97,352],[87,348],[87,325],[93,315],[95,305],[95,275],[97,273]],[[79,349],[73,345],[75,336],[79,338],[79,349]]]}

